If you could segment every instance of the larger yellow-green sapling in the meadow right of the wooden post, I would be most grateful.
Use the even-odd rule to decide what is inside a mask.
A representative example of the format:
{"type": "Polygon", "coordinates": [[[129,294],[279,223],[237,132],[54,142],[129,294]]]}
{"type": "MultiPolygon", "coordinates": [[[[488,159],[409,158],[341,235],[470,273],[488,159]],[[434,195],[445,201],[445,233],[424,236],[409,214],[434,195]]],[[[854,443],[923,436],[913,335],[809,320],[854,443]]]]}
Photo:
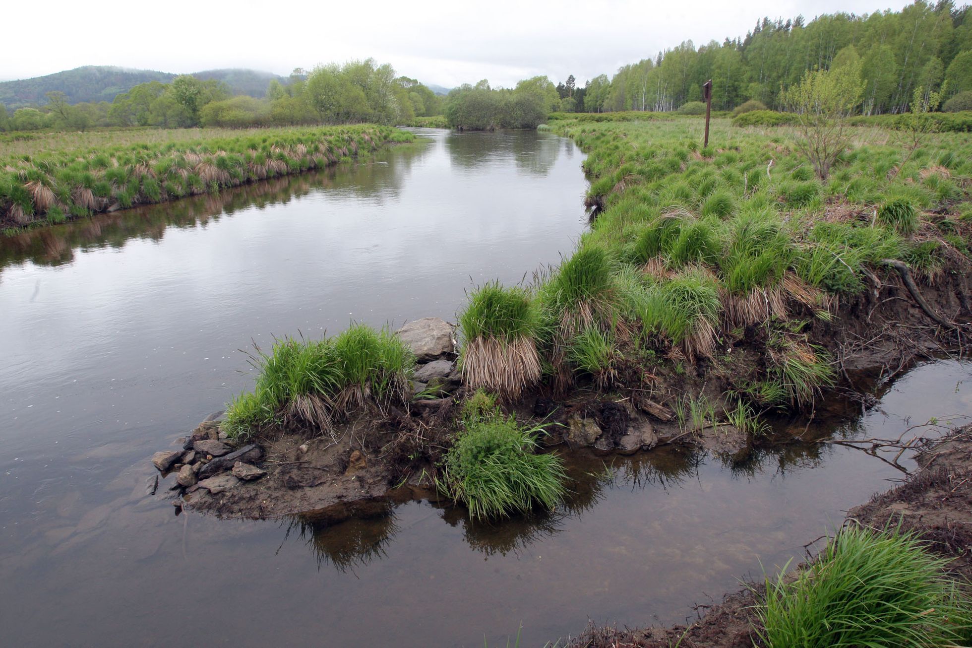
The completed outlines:
{"type": "Polygon", "coordinates": [[[862,92],[860,59],[849,57],[832,70],[808,71],[799,84],[783,93],[798,116],[802,138],[797,145],[821,180],[826,180],[830,167],[851,143],[848,118],[862,92]]]}

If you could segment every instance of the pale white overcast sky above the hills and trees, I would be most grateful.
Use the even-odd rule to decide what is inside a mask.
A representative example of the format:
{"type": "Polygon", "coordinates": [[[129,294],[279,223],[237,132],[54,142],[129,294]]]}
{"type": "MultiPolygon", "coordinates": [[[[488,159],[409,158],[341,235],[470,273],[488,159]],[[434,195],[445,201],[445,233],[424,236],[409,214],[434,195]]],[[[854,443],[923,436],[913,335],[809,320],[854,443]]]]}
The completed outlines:
{"type": "Polygon", "coordinates": [[[0,79],[80,65],[163,72],[295,67],[372,56],[399,74],[453,87],[489,79],[510,87],[545,74],[578,85],[691,39],[696,46],[745,36],[758,18],[808,21],[838,11],[871,14],[888,0],[642,0],[609,2],[211,2],[168,0],[35,5],[4,9],[0,79]]]}

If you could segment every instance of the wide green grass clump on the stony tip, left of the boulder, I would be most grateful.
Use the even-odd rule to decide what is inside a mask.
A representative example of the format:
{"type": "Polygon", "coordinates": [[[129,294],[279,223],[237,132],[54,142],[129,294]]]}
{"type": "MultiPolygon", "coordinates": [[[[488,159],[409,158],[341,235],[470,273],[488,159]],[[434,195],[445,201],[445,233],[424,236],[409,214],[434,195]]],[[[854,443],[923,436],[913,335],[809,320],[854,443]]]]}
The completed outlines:
{"type": "Polygon", "coordinates": [[[354,324],[324,340],[284,338],[257,349],[254,390],[226,408],[230,437],[250,438],[265,426],[330,431],[335,420],[367,402],[401,401],[415,358],[387,329],[354,324]]]}

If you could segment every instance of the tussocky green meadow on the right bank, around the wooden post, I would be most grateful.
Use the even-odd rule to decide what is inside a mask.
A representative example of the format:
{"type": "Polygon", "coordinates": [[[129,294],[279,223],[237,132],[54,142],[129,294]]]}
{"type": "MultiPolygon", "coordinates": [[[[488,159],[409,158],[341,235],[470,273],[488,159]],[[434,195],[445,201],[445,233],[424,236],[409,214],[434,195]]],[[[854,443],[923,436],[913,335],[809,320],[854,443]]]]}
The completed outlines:
{"type": "Polygon", "coordinates": [[[808,332],[886,262],[926,284],[969,267],[966,133],[911,150],[895,131],[856,127],[820,180],[788,126],[713,120],[703,149],[701,120],[620,117],[551,123],[588,153],[597,217],[573,255],[526,289],[471,294],[460,325],[474,386],[516,396],[539,382],[608,388],[620,365],[628,376],[718,367],[727,343],[757,326],[762,365],[736,372],[712,409],[758,429],[749,414],[810,411],[834,383],[833,358],[808,332]]]}

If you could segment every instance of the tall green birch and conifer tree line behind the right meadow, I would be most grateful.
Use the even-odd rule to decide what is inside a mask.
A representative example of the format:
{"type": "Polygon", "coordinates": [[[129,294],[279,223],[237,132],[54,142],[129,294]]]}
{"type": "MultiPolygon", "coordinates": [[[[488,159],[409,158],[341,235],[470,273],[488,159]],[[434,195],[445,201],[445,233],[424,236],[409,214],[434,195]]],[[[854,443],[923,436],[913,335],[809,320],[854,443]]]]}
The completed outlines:
{"type": "MultiPolygon", "coordinates": [[[[696,48],[684,41],[653,58],[625,65],[613,77],[587,82],[566,110],[670,111],[702,99],[712,79],[712,107],[747,100],[783,109],[783,90],[809,70],[827,70],[843,54],[858,57],[865,80],[858,108],[866,115],[909,109],[914,90],[944,88],[946,99],[972,90],[972,16],[952,0],[918,0],[900,12],[823,15],[810,22],[758,21],[746,37],[696,48]]],[[[562,95],[563,96],[563,95],[562,95]]]]}

